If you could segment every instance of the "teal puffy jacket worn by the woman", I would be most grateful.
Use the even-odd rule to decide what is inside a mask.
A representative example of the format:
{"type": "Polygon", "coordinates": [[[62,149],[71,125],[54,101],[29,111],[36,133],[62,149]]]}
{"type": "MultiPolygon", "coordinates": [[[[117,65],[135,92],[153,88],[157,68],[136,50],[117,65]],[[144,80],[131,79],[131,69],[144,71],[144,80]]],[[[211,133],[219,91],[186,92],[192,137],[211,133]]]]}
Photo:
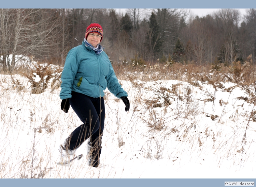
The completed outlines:
{"type": "Polygon", "coordinates": [[[71,91],[94,98],[103,97],[106,87],[117,98],[128,96],[116,78],[108,55],[104,51],[96,54],[84,41],[69,51],[61,81],[62,100],[71,98],[71,91]]]}

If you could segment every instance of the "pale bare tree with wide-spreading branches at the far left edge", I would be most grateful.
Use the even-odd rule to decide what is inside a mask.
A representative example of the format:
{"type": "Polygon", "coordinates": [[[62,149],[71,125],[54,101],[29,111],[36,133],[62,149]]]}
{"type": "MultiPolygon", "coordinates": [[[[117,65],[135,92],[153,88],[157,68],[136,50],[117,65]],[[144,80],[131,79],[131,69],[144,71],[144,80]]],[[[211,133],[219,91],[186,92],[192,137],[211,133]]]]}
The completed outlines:
{"type": "Polygon", "coordinates": [[[1,10],[1,51],[4,60],[12,55],[12,61],[4,62],[4,67],[13,70],[17,62],[16,55],[44,56],[50,53],[52,42],[58,33],[54,12],[41,9],[2,9],[1,10]],[[49,16],[50,15],[50,16],[49,16]],[[47,53],[48,51],[48,53],[47,53]],[[6,65],[6,66],[5,66],[6,65]]]}

